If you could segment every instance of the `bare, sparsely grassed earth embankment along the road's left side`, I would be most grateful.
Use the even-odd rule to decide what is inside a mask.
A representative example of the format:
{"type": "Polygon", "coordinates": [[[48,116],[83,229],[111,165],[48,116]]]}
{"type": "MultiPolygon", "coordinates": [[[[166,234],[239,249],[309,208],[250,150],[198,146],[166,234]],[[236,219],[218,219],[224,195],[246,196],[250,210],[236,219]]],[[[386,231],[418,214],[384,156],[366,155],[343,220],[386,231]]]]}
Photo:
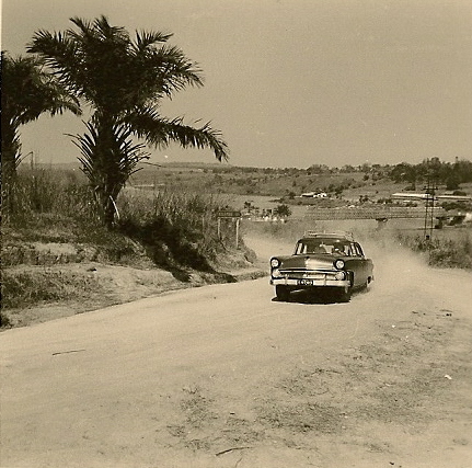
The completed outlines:
{"type": "Polygon", "coordinates": [[[24,327],[169,290],[265,275],[242,247],[209,271],[156,265],[136,242],[126,254],[68,242],[13,242],[2,249],[2,328],[24,327]],[[115,252],[116,253],[116,252],[115,252]]]}

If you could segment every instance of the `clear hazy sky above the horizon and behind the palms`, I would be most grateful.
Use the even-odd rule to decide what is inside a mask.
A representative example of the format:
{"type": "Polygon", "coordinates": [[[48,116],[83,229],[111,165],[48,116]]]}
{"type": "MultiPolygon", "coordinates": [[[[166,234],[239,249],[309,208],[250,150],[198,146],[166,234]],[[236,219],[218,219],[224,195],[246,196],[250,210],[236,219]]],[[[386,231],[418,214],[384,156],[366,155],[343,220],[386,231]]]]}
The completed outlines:
{"type": "MultiPolygon", "coordinates": [[[[233,165],[418,163],[472,159],[470,0],[3,0],[1,48],[24,54],[38,30],[104,14],[169,41],[205,85],[162,105],[211,122],[233,165]]],[[[79,156],[79,117],[21,127],[23,155],[79,156]]],[[[151,150],[151,162],[215,162],[210,150],[151,150]]]]}

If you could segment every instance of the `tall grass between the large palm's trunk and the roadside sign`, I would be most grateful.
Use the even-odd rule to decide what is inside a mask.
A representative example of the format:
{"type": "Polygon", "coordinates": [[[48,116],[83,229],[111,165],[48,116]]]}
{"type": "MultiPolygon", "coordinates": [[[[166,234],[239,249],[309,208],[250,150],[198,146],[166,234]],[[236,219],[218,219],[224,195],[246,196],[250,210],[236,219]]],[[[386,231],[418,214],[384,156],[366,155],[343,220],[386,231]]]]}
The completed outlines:
{"type": "Polygon", "coordinates": [[[161,264],[181,264],[202,271],[231,246],[231,227],[217,213],[221,197],[176,191],[125,191],[118,201],[119,230],[146,247],[161,264]]]}

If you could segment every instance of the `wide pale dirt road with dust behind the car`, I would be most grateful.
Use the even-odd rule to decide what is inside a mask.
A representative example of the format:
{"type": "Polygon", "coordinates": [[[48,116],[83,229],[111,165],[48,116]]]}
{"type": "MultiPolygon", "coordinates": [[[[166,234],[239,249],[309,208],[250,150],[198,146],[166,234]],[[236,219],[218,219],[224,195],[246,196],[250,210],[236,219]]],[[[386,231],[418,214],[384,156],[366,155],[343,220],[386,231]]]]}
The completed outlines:
{"type": "Polygon", "coordinates": [[[3,332],[1,466],[472,467],[472,274],[370,253],[349,304],[262,278],[3,332]]]}

